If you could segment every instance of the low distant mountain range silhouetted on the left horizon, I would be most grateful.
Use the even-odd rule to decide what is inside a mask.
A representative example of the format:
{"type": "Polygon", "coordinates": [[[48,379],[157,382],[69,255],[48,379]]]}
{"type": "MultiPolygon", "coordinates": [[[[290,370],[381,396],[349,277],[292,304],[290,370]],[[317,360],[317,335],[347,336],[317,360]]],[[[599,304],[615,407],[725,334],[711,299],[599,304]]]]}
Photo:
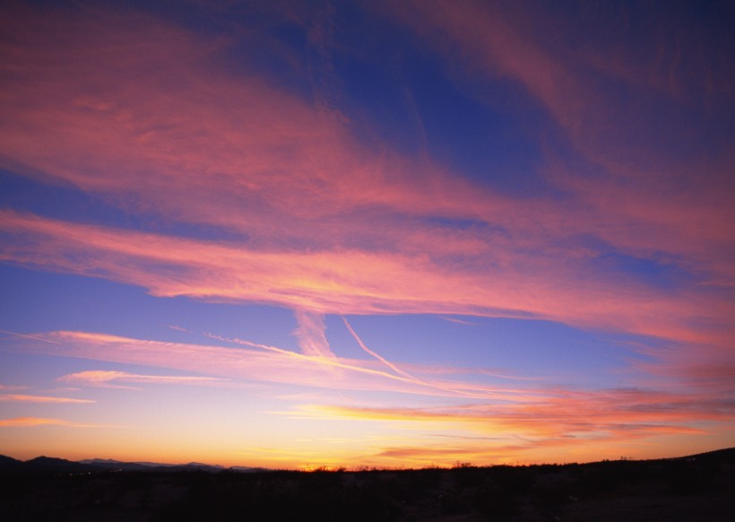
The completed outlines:
{"type": "Polygon", "coordinates": [[[245,467],[233,465],[208,465],[199,462],[188,464],[161,464],[159,462],[121,462],[110,458],[88,458],[80,461],[66,460],[56,457],[36,457],[22,461],[0,455],[0,473],[35,473],[35,474],[88,474],[101,472],[177,472],[203,471],[220,473],[231,471],[238,473],[257,473],[269,471],[262,467],[245,467]]]}

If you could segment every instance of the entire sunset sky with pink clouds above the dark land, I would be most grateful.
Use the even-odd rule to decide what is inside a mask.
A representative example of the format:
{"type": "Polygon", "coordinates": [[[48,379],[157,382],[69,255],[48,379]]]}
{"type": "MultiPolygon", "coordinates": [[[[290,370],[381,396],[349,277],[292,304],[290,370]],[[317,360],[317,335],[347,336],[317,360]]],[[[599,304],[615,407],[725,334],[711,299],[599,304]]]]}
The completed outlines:
{"type": "Polygon", "coordinates": [[[735,446],[731,2],[0,20],[0,453],[735,446]]]}

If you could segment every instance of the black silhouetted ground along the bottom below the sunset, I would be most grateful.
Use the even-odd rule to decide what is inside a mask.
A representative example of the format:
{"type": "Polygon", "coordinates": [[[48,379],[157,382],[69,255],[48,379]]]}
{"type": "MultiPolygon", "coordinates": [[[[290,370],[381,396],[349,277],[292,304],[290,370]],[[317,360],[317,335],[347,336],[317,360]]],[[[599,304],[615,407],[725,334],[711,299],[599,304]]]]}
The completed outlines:
{"type": "Polygon", "coordinates": [[[584,465],[0,473],[3,520],[735,520],[735,448],[584,465]]]}

